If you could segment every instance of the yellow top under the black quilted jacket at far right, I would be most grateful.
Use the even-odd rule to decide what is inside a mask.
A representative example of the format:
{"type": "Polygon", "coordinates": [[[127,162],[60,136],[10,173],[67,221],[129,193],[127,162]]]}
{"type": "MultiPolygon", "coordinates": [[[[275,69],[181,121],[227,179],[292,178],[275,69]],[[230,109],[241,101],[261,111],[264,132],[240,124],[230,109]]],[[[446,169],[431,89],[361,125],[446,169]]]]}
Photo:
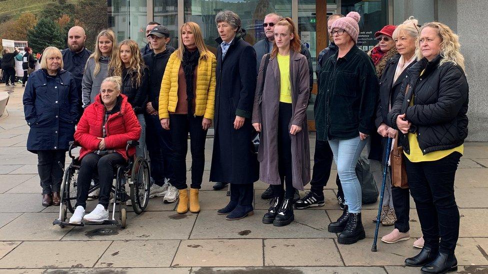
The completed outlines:
{"type": "MultiPolygon", "coordinates": [[[[423,71],[420,73],[420,76],[422,74],[423,71]]],[[[410,100],[410,106],[413,106],[413,98],[414,96],[412,96],[410,100]]],[[[403,150],[403,154],[405,154],[406,158],[408,158],[408,160],[412,163],[437,161],[448,156],[449,154],[455,151],[459,152],[460,154],[464,153],[464,145],[460,145],[455,148],[432,151],[423,155],[422,150],[418,145],[417,133],[408,133],[408,144],[410,145],[410,154],[407,154],[404,150],[403,150]]]]}

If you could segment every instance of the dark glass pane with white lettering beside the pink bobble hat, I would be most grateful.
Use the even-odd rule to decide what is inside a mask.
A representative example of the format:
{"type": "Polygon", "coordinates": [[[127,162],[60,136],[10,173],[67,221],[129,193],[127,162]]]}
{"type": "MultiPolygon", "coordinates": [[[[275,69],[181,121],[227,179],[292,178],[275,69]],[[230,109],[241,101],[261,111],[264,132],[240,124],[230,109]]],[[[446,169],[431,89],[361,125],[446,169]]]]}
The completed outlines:
{"type": "Polygon", "coordinates": [[[359,37],[357,46],[364,51],[370,50],[376,44],[374,33],[387,24],[387,0],[342,0],[341,13],[357,11],[361,15],[359,20],[359,37]]]}

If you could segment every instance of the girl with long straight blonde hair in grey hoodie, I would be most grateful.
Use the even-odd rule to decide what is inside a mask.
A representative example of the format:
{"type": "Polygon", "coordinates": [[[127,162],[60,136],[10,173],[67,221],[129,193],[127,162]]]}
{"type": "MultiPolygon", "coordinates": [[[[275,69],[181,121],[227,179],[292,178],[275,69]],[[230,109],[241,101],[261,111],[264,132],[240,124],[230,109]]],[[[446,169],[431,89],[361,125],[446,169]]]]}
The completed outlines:
{"type": "Polygon", "coordinates": [[[86,61],[81,81],[83,108],[93,103],[108,72],[108,63],[114,58],[117,38],[111,29],[104,29],[96,36],[95,50],[86,61]]]}

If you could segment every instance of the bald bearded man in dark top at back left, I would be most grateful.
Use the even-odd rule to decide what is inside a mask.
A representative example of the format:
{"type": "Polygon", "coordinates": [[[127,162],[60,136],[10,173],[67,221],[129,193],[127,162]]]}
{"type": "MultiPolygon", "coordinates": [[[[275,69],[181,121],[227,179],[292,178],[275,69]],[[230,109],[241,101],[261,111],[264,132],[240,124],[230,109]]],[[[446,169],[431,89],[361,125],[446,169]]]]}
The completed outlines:
{"type": "MultiPolygon", "coordinates": [[[[91,54],[91,51],[84,47],[85,41],[86,35],[84,29],[75,25],[68,31],[68,48],[61,51],[63,67],[73,75],[78,98],[81,98],[81,80],[83,79],[84,66],[91,54]]],[[[78,112],[80,117],[83,114],[81,105],[82,102],[79,100],[78,112]]]]}

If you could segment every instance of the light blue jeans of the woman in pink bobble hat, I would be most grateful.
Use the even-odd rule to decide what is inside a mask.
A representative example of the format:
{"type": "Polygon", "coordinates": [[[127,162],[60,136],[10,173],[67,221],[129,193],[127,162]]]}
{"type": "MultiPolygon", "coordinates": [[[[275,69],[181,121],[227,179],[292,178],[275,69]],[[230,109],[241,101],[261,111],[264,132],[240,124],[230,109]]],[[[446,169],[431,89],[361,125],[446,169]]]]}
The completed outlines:
{"type": "Polygon", "coordinates": [[[366,145],[366,140],[361,141],[357,136],[347,140],[328,140],[328,143],[334,154],[345,204],[350,213],[360,213],[361,185],[357,180],[355,168],[361,151],[366,145]]]}

